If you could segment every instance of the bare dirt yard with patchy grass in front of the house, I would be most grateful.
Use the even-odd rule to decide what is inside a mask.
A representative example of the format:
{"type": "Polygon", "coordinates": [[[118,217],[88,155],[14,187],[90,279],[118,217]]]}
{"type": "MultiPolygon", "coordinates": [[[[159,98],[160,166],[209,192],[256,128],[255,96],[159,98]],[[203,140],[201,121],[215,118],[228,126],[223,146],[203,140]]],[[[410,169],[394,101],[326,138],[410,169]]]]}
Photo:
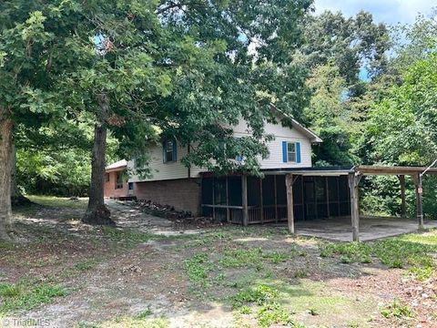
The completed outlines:
{"type": "Polygon", "coordinates": [[[0,325],[437,327],[435,272],[419,281],[373,257],[322,257],[322,241],[285,227],[185,226],[108,206],[117,229],[80,223],[85,200],[18,211],[19,242],[0,244],[0,325]]]}

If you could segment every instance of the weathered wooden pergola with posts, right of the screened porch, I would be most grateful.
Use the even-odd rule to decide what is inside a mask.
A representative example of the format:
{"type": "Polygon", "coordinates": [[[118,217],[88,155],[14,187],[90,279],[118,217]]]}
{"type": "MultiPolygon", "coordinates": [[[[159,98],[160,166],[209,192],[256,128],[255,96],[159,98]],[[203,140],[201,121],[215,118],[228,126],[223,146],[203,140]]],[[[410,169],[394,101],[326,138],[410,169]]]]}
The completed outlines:
{"type": "MultiPolygon", "coordinates": [[[[282,172],[284,173],[284,172],[282,172]]],[[[383,166],[357,166],[351,169],[302,169],[293,170],[286,174],[287,188],[287,209],[288,224],[290,233],[295,232],[294,213],[293,213],[293,183],[296,176],[318,175],[318,176],[338,176],[348,175],[349,188],[351,194],[351,226],[352,240],[360,241],[360,201],[359,184],[363,176],[368,175],[388,175],[397,176],[401,184],[401,217],[406,217],[405,202],[405,176],[412,177],[416,191],[416,212],[419,230],[423,229],[423,209],[422,209],[422,176],[424,174],[437,174],[437,169],[425,167],[383,167],[383,166]]]]}

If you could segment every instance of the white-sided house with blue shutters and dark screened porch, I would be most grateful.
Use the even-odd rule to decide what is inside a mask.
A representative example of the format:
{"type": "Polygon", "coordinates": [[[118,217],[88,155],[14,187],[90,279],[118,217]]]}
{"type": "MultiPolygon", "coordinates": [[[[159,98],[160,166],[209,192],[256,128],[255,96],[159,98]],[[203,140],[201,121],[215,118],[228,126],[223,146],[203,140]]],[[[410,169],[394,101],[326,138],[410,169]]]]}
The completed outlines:
{"type": "MultiPolygon", "coordinates": [[[[296,220],[349,215],[348,177],[317,176],[312,168],[311,146],[322,140],[295,119],[287,118],[290,124],[282,125],[283,118],[286,117],[278,112],[276,124],[265,124],[266,134],[273,135],[274,140],[268,144],[269,157],[260,159],[263,179],[239,172],[218,177],[202,168],[188,169],[180,161],[188,148],[168,140],[150,149],[152,172],[148,178],[134,175],[121,184],[122,174],[117,172],[134,169],[138,164],[135,160],[127,161],[126,166],[118,162],[107,167],[107,173],[113,176],[107,178],[105,195],[116,198],[135,195],[138,200],[151,200],[176,210],[235,223],[279,221],[287,220],[286,173],[299,171],[293,180],[296,220]]],[[[244,120],[233,130],[236,138],[250,133],[244,120]]]]}

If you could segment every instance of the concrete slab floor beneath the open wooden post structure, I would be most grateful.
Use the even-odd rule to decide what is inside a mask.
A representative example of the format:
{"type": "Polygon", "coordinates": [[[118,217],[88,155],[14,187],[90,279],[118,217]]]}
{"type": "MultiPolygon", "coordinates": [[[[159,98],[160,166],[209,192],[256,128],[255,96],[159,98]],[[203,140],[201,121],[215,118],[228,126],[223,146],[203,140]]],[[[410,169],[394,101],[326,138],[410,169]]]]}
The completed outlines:
{"type": "MultiPolygon", "coordinates": [[[[437,228],[437,220],[426,220],[425,229],[437,228]]],[[[296,234],[320,237],[332,241],[352,241],[351,218],[297,221],[296,234]]],[[[397,218],[361,218],[360,240],[372,241],[380,238],[418,232],[415,220],[397,218]]]]}

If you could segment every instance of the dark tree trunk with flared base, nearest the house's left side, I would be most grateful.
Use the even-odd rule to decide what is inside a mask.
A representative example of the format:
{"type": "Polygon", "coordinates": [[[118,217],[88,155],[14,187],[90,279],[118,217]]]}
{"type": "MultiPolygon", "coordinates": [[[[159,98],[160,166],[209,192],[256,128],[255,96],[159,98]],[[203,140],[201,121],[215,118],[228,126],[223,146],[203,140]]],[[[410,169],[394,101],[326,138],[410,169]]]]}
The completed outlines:
{"type": "Polygon", "coordinates": [[[105,156],[107,148],[107,127],[105,120],[109,113],[109,97],[106,94],[97,95],[99,114],[94,127],[94,147],[91,166],[91,185],[89,187],[88,207],[84,218],[85,223],[96,225],[115,225],[110,219],[110,211],[105,205],[105,156]]]}

